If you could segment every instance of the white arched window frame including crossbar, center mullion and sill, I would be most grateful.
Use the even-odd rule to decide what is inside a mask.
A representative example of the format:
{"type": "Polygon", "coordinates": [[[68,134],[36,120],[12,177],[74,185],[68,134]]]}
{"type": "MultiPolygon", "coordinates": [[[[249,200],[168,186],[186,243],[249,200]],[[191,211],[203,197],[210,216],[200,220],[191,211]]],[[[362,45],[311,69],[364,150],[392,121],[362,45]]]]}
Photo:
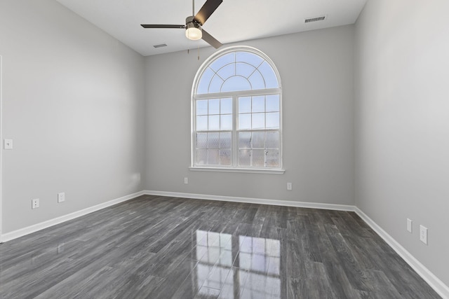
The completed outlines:
{"type": "Polygon", "coordinates": [[[229,48],[225,48],[223,50],[218,51],[217,53],[211,55],[196,72],[194,78],[194,84],[192,85],[192,96],[191,96],[191,165],[189,167],[192,171],[208,171],[208,172],[246,172],[246,173],[261,173],[261,174],[283,174],[285,170],[283,169],[283,155],[282,155],[282,88],[281,88],[281,78],[279,76],[279,71],[276,69],[276,66],[272,62],[272,60],[262,53],[262,51],[257,50],[253,47],[248,46],[233,46],[229,48]],[[228,53],[237,52],[237,51],[246,51],[249,53],[253,53],[262,57],[274,70],[276,74],[276,78],[279,83],[279,88],[268,88],[262,90],[239,90],[232,92],[217,92],[217,93],[207,93],[196,95],[196,90],[199,85],[199,81],[203,72],[207,69],[207,67],[215,62],[215,60],[219,59],[223,55],[227,55],[228,53]],[[279,167],[240,167],[237,163],[238,155],[239,155],[239,140],[237,137],[238,132],[268,132],[269,129],[264,130],[237,130],[237,105],[239,97],[254,97],[260,95],[279,95],[279,167]],[[223,99],[223,98],[232,98],[232,165],[196,165],[196,101],[199,99],[223,99]]]}

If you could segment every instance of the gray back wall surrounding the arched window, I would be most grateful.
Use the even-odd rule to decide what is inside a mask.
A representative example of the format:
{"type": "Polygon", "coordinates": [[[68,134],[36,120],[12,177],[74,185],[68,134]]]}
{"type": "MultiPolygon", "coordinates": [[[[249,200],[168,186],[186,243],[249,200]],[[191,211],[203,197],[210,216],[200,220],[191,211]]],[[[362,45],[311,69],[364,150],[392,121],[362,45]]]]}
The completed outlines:
{"type": "Polygon", "coordinates": [[[281,74],[286,173],[189,171],[192,83],[214,50],[204,48],[200,61],[197,50],[146,58],[147,190],[354,204],[354,26],[244,44],[281,74]]]}

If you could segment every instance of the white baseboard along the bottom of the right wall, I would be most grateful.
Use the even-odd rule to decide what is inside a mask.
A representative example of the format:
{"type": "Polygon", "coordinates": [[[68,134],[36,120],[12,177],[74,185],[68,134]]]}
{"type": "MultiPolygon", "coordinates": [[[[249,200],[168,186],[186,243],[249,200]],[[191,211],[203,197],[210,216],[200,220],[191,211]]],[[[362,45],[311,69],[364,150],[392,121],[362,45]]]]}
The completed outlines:
{"type": "Polygon", "coordinates": [[[373,219],[363,213],[361,209],[358,209],[358,207],[356,207],[355,212],[358,216],[360,216],[360,218],[363,219],[363,221],[368,223],[368,225],[370,225],[370,227],[373,228],[375,232],[377,232],[377,235],[380,235],[380,237],[382,237],[382,239],[384,239],[384,241],[387,242],[387,244],[389,244],[389,246],[391,246],[391,248],[394,249],[394,251],[396,251],[396,253],[398,253],[398,255],[401,256],[401,258],[403,258],[403,260],[405,260],[406,263],[408,263],[408,265],[410,265],[410,267],[412,267],[413,270],[415,270],[417,274],[419,274],[420,277],[422,277],[422,279],[424,279],[427,284],[429,284],[429,286],[431,286],[431,288],[436,291],[436,293],[438,293],[438,295],[441,295],[441,297],[444,299],[449,299],[449,287],[446,286],[443,281],[438,279],[438,277],[430,272],[427,267],[422,265],[419,260],[412,256],[412,254],[405,248],[403,248],[401,244],[399,244],[385,230],[377,225],[377,223],[375,223],[373,219]]]}

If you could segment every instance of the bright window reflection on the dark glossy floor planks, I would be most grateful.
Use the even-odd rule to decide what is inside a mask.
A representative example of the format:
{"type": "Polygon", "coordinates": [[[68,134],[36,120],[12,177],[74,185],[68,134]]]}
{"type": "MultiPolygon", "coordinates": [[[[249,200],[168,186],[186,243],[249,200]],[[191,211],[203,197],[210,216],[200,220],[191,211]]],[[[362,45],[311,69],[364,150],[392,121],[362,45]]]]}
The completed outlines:
{"type": "Polygon", "coordinates": [[[196,230],[192,286],[205,298],[281,298],[277,239],[196,230]]]}

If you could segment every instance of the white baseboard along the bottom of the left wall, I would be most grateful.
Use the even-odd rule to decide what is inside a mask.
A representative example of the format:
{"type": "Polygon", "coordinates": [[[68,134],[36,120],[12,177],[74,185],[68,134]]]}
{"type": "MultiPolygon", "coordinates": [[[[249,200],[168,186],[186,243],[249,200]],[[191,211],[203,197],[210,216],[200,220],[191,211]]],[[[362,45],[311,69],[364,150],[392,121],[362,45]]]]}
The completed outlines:
{"type": "Polygon", "coordinates": [[[109,200],[108,202],[103,202],[102,204],[97,204],[93,207],[88,207],[86,209],[82,209],[81,211],[75,211],[73,213],[60,216],[57,218],[50,219],[48,221],[43,221],[41,223],[37,223],[34,225],[30,225],[26,228],[20,228],[19,230],[14,230],[13,232],[7,232],[4,235],[1,235],[1,242],[8,242],[12,239],[17,239],[18,237],[22,237],[25,235],[29,235],[32,232],[37,232],[38,230],[43,230],[44,228],[49,228],[53,225],[72,220],[74,218],[78,218],[81,216],[84,216],[86,214],[90,214],[94,211],[98,211],[100,209],[105,209],[106,207],[110,207],[114,204],[119,204],[120,202],[126,202],[127,200],[131,200],[135,197],[138,197],[140,195],[144,195],[143,191],[140,191],[138,193],[133,193],[130,195],[126,195],[123,197],[116,198],[115,200],[109,200]]]}

